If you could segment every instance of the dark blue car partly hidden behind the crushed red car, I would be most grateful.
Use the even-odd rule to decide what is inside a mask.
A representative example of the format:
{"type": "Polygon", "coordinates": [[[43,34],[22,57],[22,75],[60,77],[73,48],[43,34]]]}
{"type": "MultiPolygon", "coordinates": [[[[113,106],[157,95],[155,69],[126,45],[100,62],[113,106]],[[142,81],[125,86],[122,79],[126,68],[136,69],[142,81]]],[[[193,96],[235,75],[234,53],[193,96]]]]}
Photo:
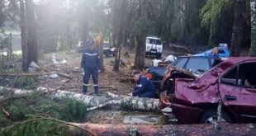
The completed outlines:
{"type": "MultiPolygon", "coordinates": [[[[215,59],[210,57],[186,56],[179,57],[173,63],[171,63],[171,65],[177,68],[187,69],[196,76],[200,76],[202,73],[206,72],[212,67],[214,61],[215,59]]],[[[149,77],[157,90],[161,90],[160,84],[164,77],[165,71],[166,67],[149,67],[145,72],[145,76],[149,77]]],[[[178,73],[176,73],[173,74],[173,77],[183,77],[183,75],[178,75],[178,73]]]]}

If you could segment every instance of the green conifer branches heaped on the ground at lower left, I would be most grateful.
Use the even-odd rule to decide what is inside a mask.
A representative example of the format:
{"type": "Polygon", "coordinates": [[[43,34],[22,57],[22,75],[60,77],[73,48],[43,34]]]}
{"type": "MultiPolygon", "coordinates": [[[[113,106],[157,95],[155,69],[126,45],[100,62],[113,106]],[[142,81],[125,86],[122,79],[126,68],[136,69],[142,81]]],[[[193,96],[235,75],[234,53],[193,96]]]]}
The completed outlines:
{"type": "Polygon", "coordinates": [[[86,113],[86,106],[80,101],[53,101],[37,93],[19,97],[2,95],[9,98],[1,106],[10,115],[0,111],[0,135],[69,135],[73,129],[44,117],[78,122],[86,113]]]}

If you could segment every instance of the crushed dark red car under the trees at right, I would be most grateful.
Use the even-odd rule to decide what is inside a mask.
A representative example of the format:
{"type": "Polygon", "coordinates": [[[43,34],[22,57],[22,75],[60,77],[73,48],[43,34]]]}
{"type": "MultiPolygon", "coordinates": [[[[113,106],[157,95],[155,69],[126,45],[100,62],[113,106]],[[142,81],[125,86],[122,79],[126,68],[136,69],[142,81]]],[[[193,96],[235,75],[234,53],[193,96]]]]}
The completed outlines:
{"type": "Polygon", "coordinates": [[[256,122],[256,58],[226,59],[201,77],[173,78],[173,73],[187,74],[167,68],[160,94],[164,115],[179,123],[211,123],[220,102],[222,121],[256,122]]]}

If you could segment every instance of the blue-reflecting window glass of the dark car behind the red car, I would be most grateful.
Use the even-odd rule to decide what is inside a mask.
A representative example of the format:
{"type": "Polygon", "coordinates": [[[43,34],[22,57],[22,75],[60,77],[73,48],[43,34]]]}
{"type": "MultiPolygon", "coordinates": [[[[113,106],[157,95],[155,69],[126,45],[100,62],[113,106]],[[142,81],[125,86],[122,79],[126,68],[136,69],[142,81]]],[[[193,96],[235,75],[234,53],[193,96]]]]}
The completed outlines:
{"type": "Polygon", "coordinates": [[[207,71],[210,69],[209,61],[208,59],[189,59],[186,69],[192,71],[207,71]]]}

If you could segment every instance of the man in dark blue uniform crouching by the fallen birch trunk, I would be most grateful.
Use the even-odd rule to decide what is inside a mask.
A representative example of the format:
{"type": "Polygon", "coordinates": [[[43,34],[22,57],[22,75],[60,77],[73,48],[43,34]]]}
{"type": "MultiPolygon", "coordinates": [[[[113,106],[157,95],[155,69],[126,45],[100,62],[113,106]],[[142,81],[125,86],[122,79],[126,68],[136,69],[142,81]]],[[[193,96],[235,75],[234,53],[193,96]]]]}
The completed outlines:
{"type": "Polygon", "coordinates": [[[156,91],[154,84],[144,76],[141,76],[138,71],[132,73],[133,79],[136,82],[136,87],[130,96],[148,97],[154,98],[156,96],[156,91]]]}

